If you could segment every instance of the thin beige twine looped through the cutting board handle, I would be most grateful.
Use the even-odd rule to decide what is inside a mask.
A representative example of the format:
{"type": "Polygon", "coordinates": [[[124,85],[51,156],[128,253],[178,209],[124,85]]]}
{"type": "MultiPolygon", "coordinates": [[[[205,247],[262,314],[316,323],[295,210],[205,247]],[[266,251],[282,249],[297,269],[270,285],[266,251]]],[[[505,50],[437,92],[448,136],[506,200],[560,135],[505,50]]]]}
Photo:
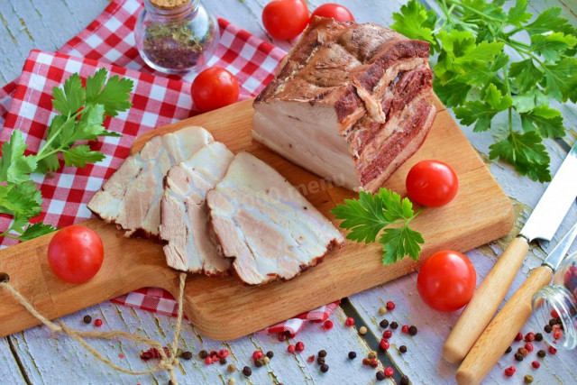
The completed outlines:
{"type": "Polygon", "coordinates": [[[25,307],[26,310],[30,312],[30,314],[32,314],[32,316],[35,316],[42,324],[46,325],[53,333],[61,333],[63,335],[69,335],[69,337],[76,340],[78,344],[82,345],[89,353],[91,353],[94,357],[96,357],[96,359],[100,360],[101,362],[105,362],[106,365],[110,366],[116,371],[122,371],[123,373],[133,375],[150,374],[156,371],[169,371],[170,383],[172,385],[178,384],[178,381],[174,376],[174,369],[176,366],[179,365],[179,359],[177,358],[177,351],[179,348],[179,335],[182,326],[182,316],[183,316],[182,303],[183,303],[184,286],[187,278],[187,273],[182,272],[179,275],[180,280],[179,310],[177,316],[176,330],[174,331],[174,335],[172,337],[172,344],[170,344],[169,356],[167,356],[167,354],[164,352],[162,344],[160,344],[157,341],[151,340],[150,338],[143,337],[142,335],[135,335],[133,333],[127,333],[122,330],[113,330],[110,332],[85,332],[81,330],[70,329],[67,325],[62,324],[62,322],[60,321],[54,323],[45,316],[42,316],[40,312],[36,310],[36,308],[33,307],[32,304],[26,298],[24,298],[22,294],[20,294],[20,292],[18,292],[18,290],[14,289],[14,287],[10,285],[9,277],[7,275],[6,277],[1,278],[0,278],[0,288],[6,288],[14,296],[14,298],[16,298],[18,302],[20,302],[20,304],[23,307],[25,307]],[[4,278],[4,280],[2,280],[1,278],[4,278]],[[156,366],[152,367],[147,371],[129,371],[124,368],[121,368],[114,362],[111,362],[110,360],[103,357],[102,354],[96,352],[96,350],[92,346],[87,344],[85,338],[104,338],[106,340],[112,340],[114,338],[124,338],[133,341],[134,343],[149,344],[159,351],[160,362],[156,366]]]}

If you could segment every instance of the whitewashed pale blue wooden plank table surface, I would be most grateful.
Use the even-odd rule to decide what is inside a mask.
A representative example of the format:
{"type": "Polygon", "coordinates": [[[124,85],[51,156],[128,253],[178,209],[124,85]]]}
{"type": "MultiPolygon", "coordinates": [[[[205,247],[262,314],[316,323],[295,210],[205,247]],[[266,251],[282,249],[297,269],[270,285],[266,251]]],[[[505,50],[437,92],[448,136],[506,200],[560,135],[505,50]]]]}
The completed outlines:
{"type": "MultiPolygon", "coordinates": [[[[243,29],[270,41],[261,24],[261,9],[266,0],[224,0],[205,1],[217,14],[235,23],[243,29]]],[[[310,8],[325,3],[311,0],[310,8]]],[[[392,22],[392,12],[397,11],[404,3],[401,0],[341,0],[340,2],[353,11],[358,22],[374,22],[388,25],[392,22]]],[[[0,1],[0,84],[5,84],[18,76],[29,50],[56,50],[65,41],[83,29],[107,5],[106,0],[2,0],[0,1]]],[[[529,9],[538,14],[549,6],[563,7],[563,15],[577,24],[577,0],[530,0],[529,9]]],[[[273,41],[279,47],[288,50],[288,41],[273,41]]],[[[566,126],[569,129],[567,143],[577,139],[577,106],[565,105],[561,109],[566,126]]],[[[519,177],[510,166],[489,160],[487,153],[492,141],[490,133],[472,133],[463,127],[473,146],[486,160],[487,167],[511,198],[517,214],[517,224],[505,239],[481,246],[468,252],[474,263],[478,282],[486,275],[492,264],[499,258],[504,246],[518,233],[527,219],[531,209],[536,206],[538,198],[545,190],[545,185],[519,177]]],[[[548,141],[548,150],[552,158],[552,170],[555,171],[563,160],[568,146],[548,141]]],[[[577,208],[572,207],[560,230],[554,237],[555,244],[572,223],[577,221],[577,208]]],[[[521,272],[517,274],[508,297],[527,278],[530,269],[540,264],[541,259],[551,245],[544,243],[534,245],[529,252],[521,272]]],[[[572,250],[577,246],[573,245],[572,250]]],[[[400,325],[417,325],[419,333],[412,337],[397,336],[391,340],[389,353],[380,354],[384,366],[393,366],[397,372],[408,375],[413,383],[453,383],[456,365],[444,362],[440,356],[444,338],[449,334],[459,312],[452,314],[438,313],[421,301],[416,289],[417,273],[389,282],[380,287],[359,293],[343,301],[332,320],[334,329],[329,333],[321,331],[320,325],[308,325],[298,335],[307,348],[302,354],[286,353],[287,343],[279,343],[276,336],[248,335],[246,337],[219,343],[198,335],[194,327],[186,325],[180,338],[183,350],[190,350],[195,359],[183,361],[177,370],[181,383],[226,383],[229,375],[225,366],[218,364],[207,367],[197,359],[201,349],[218,350],[227,348],[231,351],[229,362],[243,368],[250,364],[250,356],[255,349],[275,353],[270,364],[253,370],[250,381],[240,373],[235,373],[237,383],[253,384],[365,384],[375,382],[375,371],[362,367],[361,359],[372,349],[377,350],[381,329],[378,309],[388,300],[397,304],[394,312],[386,317],[396,320],[400,325]],[[355,316],[357,325],[367,325],[370,332],[364,337],[358,335],[354,328],[343,326],[347,316],[355,316]],[[398,353],[398,346],[405,344],[408,353],[398,353]],[[307,362],[307,356],[316,354],[320,349],[328,352],[327,363],[331,369],[321,373],[318,365],[307,362]],[[355,351],[358,358],[351,362],[347,353],[355,351]]],[[[2,300],[0,298],[0,300],[2,300]]],[[[122,329],[136,332],[160,340],[166,344],[171,339],[175,319],[168,316],[154,315],[131,307],[116,306],[106,302],[90,307],[76,314],[65,316],[62,320],[71,326],[81,327],[82,317],[91,315],[104,320],[103,329],[122,329]]],[[[531,318],[524,331],[541,331],[531,318]]],[[[400,333],[397,333],[399,335],[400,333]]],[[[113,362],[132,370],[147,368],[139,358],[139,350],[123,342],[95,341],[96,349],[104,353],[113,362]],[[121,355],[124,358],[121,358],[121,355]]],[[[512,379],[504,377],[503,370],[513,364],[512,354],[501,358],[485,380],[487,383],[521,383],[525,374],[532,374],[536,383],[577,383],[577,352],[559,352],[547,355],[541,368],[531,368],[532,360],[516,363],[517,372],[512,379]]],[[[398,377],[397,377],[398,379],[398,377]]],[[[133,377],[109,369],[97,362],[90,354],[82,350],[77,343],[63,336],[50,335],[45,327],[34,327],[25,332],[11,335],[0,340],[0,383],[32,384],[102,384],[102,383],[160,383],[169,380],[167,373],[133,377]]]]}

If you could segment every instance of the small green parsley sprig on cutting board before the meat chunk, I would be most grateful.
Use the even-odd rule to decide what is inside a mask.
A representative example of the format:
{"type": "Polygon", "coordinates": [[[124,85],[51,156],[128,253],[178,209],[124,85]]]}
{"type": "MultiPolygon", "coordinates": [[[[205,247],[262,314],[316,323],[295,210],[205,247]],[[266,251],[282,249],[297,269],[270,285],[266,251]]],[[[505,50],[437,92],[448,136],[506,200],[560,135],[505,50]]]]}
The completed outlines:
{"type": "Polygon", "coordinates": [[[407,197],[400,196],[387,188],[378,193],[361,191],[358,199],[344,199],[344,204],[332,210],[337,219],[343,219],[341,227],[351,230],[346,235],[358,243],[373,243],[377,235],[383,245],[382,264],[389,265],[408,255],[417,261],[421,252],[419,244],[425,243],[423,235],[408,227],[419,213],[407,197]]]}

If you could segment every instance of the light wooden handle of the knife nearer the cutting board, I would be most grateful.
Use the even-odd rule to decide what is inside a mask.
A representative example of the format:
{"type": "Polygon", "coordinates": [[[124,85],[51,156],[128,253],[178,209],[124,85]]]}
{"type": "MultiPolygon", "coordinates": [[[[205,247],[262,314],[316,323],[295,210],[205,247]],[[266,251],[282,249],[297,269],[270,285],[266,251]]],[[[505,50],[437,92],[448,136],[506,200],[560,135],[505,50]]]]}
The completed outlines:
{"type": "Polygon", "coordinates": [[[505,298],[528,250],[527,240],[517,237],[491,268],[443,345],[442,354],[446,361],[461,362],[469,353],[505,298]]]}

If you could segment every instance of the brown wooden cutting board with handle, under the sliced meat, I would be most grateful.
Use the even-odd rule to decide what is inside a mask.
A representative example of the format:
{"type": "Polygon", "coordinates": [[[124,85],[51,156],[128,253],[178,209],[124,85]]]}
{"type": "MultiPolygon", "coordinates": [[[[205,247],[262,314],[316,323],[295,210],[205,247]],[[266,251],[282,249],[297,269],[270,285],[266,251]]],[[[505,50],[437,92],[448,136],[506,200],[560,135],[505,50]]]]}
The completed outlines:
{"type": "MultiPolygon", "coordinates": [[[[513,225],[513,207],[508,197],[444,106],[438,101],[436,105],[435,124],[426,142],[385,185],[406,195],[408,170],[425,159],[444,160],[459,176],[459,193],[453,202],[441,208],[427,208],[412,224],[426,241],[419,261],[407,258],[392,266],[383,266],[379,243],[347,241],[323,263],[288,282],[249,287],[234,277],[189,275],[185,312],[197,331],[216,340],[231,340],[408,274],[417,270],[432,252],[444,249],[464,252],[508,234],[513,225]]],[[[352,191],[335,188],[253,142],[252,100],[145,133],[134,142],[132,151],[139,151],[152,135],[187,125],[202,125],[213,133],[215,140],[224,142],[232,151],[249,151],[266,161],[332,219],[331,208],[344,198],[356,197],[352,191]]],[[[124,238],[123,232],[114,225],[98,219],[90,219],[83,225],[93,228],[105,243],[103,267],[85,284],[65,283],[50,270],[46,252],[54,234],[0,252],[0,272],[8,273],[14,288],[43,315],[64,316],[143,287],[158,287],[175,296],[178,294],[178,272],[167,267],[160,244],[124,238]]],[[[39,324],[5,289],[0,289],[0,298],[0,336],[39,324]]]]}

